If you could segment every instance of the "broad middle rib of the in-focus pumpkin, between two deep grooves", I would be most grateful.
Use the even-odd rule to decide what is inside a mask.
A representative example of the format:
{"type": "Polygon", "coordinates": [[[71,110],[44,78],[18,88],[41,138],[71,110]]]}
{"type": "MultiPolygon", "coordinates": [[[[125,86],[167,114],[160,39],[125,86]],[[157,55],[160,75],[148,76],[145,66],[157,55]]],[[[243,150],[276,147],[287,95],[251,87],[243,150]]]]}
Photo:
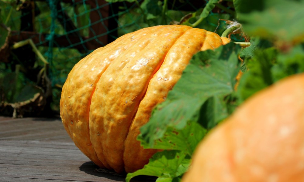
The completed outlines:
{"type": "MultiPolygon", "coordinates": [[[[95,110],[90,110],[90,117],[93,117],[90,119],[90,133],[92,133],[91,136],[93,137],[91,140],[93,146],[96,146],[94,147],[95,150],[98,150],[96,152],[99,159],[109,163],[116,172],[122,172],[123,170],[123,143],[129,130],[130,119],[137,109],[135,107],[137,107],[136,105],[141,97],[144,96],[143,88],[147,87],[147,83],[143,80],[148,78],[150,80],[151,75],[148,75],[148,72],[155,72],[155,66],[159,65],[161,56],[167,52],[166,50],[172,44],[171,42],[169,47],[164,47],[169,44],[162,41],[164,35],[168,32],[167,26],[160,26],[154,29],[155,35],[151,28],[146,28],[145,30],[149,33],[143,35],[142,38],[138,38],[140,43],[134,45],[125,54],[117,57],[118,60],[123,62],[116,61],[111,64],[105,75],[102,76],[102,81],[97,85],[99,87],[98,93],[95,91],[96,94],[92,97],[92,100],[98,102],[92,103],[91,107],[95,108],[95,110]],[[160,49],[154,49],[158,46],[160,46],[160,49]],[[130,58],[133,52],[135,57],[130,58]],[[145,61],[145,58],[151,58],[151,60],[147,65],[141,66],[138,62],[145,61]],[[132,74],[130,74],[130,71],[132,74]],[[117,74],[117,72],[120,72],[120,74],[117,74]],[[125,90],[128,92],[123,93],[125,90]],[[119,99],[122,94],[124,100],[119,99]],[[133,98],[135,99],[133,100],[133,98]],[[127,102],[125,103],[126,100],[127,102]],[[106,103],[106,105],[103,106],[102,103],[106,103]],[[100,135],[97,136],[97,132],[100,135]],[[112,141],[117,138],[119,138],[119,141],[113,143],[112,141]],[[107,148],[107,150],[103,150],[103,148],[107,148]]],[[[173,39],[174,36],[181,34],[180,31],[182,29],[189,28],[171,28],[175,33],[168,35],[168,37],[173,39]]]]}

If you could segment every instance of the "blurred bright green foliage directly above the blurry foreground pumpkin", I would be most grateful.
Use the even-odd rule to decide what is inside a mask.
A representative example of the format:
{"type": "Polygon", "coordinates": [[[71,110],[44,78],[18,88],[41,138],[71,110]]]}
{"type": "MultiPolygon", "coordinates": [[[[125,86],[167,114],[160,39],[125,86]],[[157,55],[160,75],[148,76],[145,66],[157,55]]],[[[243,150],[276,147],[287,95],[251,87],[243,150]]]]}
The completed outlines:
{"type": "Polygon", "coordinates": [[[304,72],[303,60],[303,45],[287,52],[279,52],[274,47],[257,49],[253,58],[247,59],[248,71],[240,79],[237,91],[239,102],[280,79],[304,72]]]}

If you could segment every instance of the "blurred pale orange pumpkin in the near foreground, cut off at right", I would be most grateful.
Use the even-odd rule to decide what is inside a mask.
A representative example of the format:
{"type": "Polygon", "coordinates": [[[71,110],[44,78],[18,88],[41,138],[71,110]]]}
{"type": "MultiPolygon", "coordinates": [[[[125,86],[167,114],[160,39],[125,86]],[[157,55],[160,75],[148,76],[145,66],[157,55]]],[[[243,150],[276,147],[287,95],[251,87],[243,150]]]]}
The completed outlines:
{"type": "Polygon", "coordinates": [[[303,182],[304,73],[266,88],[198,145],[183,182],[303,182]]]}

